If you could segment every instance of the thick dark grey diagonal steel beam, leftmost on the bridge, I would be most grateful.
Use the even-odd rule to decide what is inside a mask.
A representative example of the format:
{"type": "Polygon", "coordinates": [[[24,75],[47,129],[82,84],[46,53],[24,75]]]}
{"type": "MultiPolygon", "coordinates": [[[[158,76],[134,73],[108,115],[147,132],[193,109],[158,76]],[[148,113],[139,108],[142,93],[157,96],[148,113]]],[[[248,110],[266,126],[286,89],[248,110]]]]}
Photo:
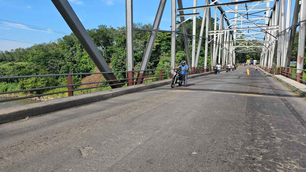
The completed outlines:
{"type": "MultiPolygon", "coordinates": [[[[58,12],[62,15],[70,29],[73,31],[76,38],[84,47],[89,57],[95,63],[100,72],[111,72],[110,67],[107,65],[99,49],[92,41],[85,27],[77,17],[76,13],[72,9],[67,0],[51,0],[54,6],[58,9],[58,12]]],[[[116,76],[113,73],[102,74],[106,80],[116,80],[116,76]]],[[[118,81],[111,82],[112,84],[118,84],[118,81]]],[[[112,88],[121,87],[120,85],[113,85],[112,88]]]]}

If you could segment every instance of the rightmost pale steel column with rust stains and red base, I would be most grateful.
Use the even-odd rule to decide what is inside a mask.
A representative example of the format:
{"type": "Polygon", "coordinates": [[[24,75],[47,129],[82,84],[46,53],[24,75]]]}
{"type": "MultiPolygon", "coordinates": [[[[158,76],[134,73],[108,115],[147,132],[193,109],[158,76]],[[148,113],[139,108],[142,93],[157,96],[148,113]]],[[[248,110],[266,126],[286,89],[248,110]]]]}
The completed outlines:
{"type": "MultiPolygon", "coordinates": [[[[300,21],[306,20],[306,0],[301,0],[300,21]]],[[[305,46],[305,30],[306,22],[300,23],[299,29],[299,46],[297,48],[297,82],[302,82],[303,63],[304,63],[304,46],[305,46]]]]}

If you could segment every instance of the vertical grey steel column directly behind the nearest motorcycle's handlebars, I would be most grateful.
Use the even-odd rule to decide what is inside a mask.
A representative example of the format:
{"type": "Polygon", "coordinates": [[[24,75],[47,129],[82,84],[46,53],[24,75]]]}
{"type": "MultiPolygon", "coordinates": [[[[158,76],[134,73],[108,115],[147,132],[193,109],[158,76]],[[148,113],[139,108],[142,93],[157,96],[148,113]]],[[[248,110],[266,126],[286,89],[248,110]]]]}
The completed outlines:
{"type": "MultiPolygon", "coordinates": [[[[171,68],[175,67],[176,0],[171,0],[171,68]]],[[[187,51],[187,50],[186,50],[187,51]]],[[[171,70],[173,73],[173,69],[171,70]]]]}

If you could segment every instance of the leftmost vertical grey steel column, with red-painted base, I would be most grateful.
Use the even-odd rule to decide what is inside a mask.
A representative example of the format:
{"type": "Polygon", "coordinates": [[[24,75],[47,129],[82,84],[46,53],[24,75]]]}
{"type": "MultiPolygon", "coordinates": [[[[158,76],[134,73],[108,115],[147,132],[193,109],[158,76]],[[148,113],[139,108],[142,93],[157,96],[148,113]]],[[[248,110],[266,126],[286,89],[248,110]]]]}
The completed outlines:
{"type": "Polygon", "coordinates": [[[133,0],[125,0],[125,22],[126,22],[126,69],[128,71],[128,86],[134,85],[134,42],[133,42],[133,0]]]}

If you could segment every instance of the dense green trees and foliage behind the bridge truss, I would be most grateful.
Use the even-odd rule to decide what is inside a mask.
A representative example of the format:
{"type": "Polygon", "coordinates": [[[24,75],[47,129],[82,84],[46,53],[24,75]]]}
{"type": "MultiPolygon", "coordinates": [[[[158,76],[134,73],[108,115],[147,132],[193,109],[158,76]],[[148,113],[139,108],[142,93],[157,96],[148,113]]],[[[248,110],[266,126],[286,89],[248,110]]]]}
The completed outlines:
{"type": "MultiPolygon", "coordinates": [[[[197,18],[197,31],[200,30],[201,17],[197,18]]],[[[178,22],[179,23],[179,22],[178,22]]],[[[212,24],[214,19],[212,19],[212,24]]],[[[186,22],[187,33],[192,34],[192,20],[186,22]]],[[[152,28],[151,24],[134,24],[138,28],[152,28]]],[[[182,32],[181,27],[177,31],[182,32]]],[[[126,70],[126,35],[125,27],[107,27],[99,25],[98,28],[88,30],[89,35],[98,47],[100,53],[109,64],[112,71],[126,70]]],[[[199,34],[199,32],[198,32],[199,34]]],[[[134,69],[140,67],[144,50],[150,32],[134,31],[134,69]]],[[[297,34],[298,35],[298,34],[297,34]]],[[[204,35],[205,36],[205,33],[204,35]]],[[[192,39],[189,37],[190,40],[192,39]]],[[[170,33],[158,33],[148,69],[170,68],[170,33]]],[[[190,41],[191,43],[191,41],[190,41]]],[[[198,38],[196,44],[198,43],[198,38]]],[[[297,40],[295,41],[297,44],[297,40]]],[[[197,45],[196,45],[197,47],[197,45]]],[[[205,41],[202,41],[199,65],[204,65],[205,41]]],[[[208,46],[207,65],[210,66],[210,46],[208,46]]],[[[189,51],[191,52],[191,46],[189,51]]],[[[293,56],[296,59],[297,46],[294,46],[293,56]]],[[[259,59],[259,54],[237,54],[236,60],[259,59]]],[[[294,58],[293,58],[294,59],[294,58]]],[[[176,37],[176,63],[186,60],[183,36],[176,37]]],[[[84,73],[94,72],[95,64],[81,46],[76,36],[72,33],[59,38],[56,42],[35,44],[28,48],[17,48],[10,51],[0,51],[0,75],[40,75],[40,74],[62,74],[62,73],[84,73]]],[[[125,73],[116,74],[118,79],[125,78],[125,73]]],[[[85,76],[74,76],[73,82],[80,83],[85,76]]],[[[9,79],[0,81],[1,91],[10,90],[11,87],[30,89],[37,87],[65,85],[66,77],[25,78],[9,79]],[[10,84],[10,86],[6,85],[10,84]]]]}

